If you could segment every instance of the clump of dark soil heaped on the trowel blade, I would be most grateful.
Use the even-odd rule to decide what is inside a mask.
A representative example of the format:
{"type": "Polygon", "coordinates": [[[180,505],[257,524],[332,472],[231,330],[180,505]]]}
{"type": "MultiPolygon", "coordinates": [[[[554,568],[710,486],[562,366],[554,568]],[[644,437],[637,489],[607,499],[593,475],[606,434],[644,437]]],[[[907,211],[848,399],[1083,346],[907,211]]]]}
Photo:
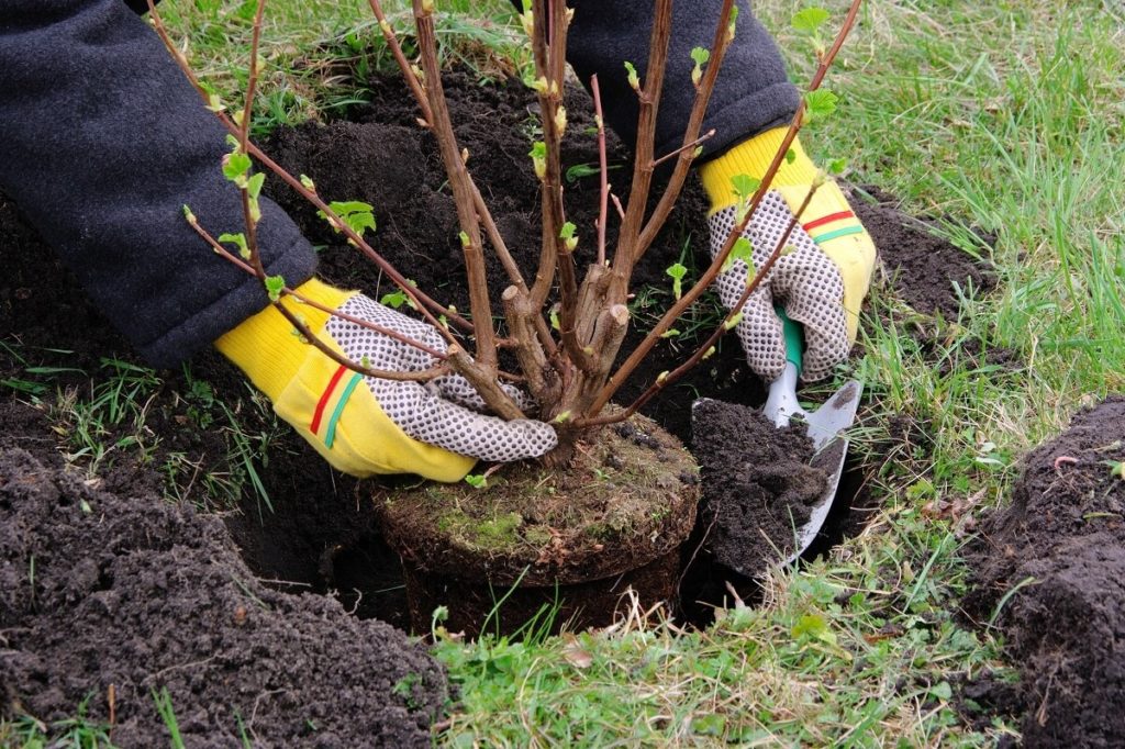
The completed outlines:
{"type": "Polygon", "coordinates": [[[801,425],[778,430],[759,410],[719,400],[692,407],[694,453],[703,477],[704,548],[736,572],[756,577],[793,552],[828,485],[812,467],[801,425]]]}

